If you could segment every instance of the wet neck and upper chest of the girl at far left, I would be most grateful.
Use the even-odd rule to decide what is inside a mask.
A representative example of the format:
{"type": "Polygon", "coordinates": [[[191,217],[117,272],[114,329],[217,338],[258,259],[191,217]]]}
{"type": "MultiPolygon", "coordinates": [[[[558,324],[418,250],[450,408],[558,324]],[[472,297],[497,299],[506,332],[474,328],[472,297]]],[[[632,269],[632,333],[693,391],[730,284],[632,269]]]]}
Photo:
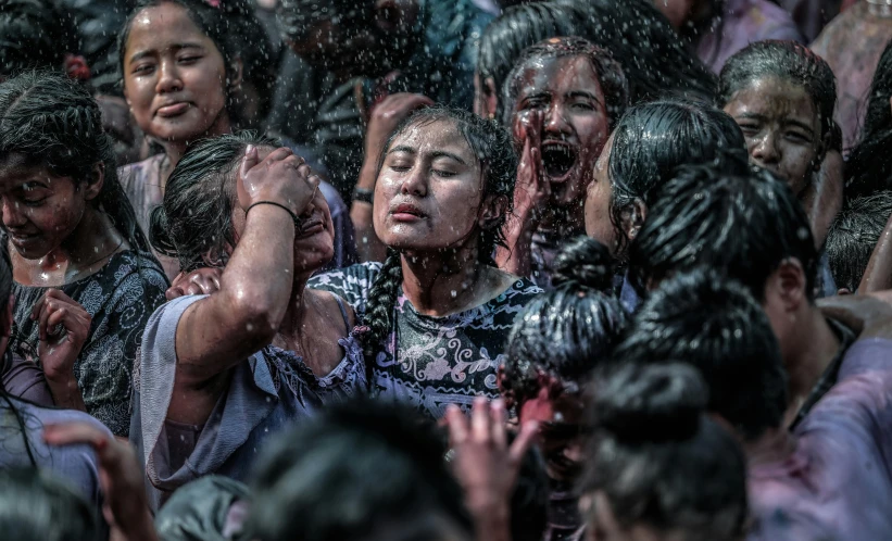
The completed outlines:
{"type": "Polygon", "coordinates": [[[124,244],[109,217],[87,206],[80,223],[61,244],[37,260],[26,260],[12,250],[15,281],[34,286],[63,285],[99,270],[124,244]]]}

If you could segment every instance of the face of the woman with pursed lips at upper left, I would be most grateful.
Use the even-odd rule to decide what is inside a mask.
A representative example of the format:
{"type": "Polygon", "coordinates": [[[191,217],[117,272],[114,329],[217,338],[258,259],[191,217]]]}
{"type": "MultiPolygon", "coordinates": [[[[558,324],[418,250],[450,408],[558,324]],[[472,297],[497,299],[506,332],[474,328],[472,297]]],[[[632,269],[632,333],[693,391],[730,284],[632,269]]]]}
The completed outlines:
{"type": "Polygon", "coordinates": [[[229,131],[223,55],[181,7],[139,12],[123,60],[124,95],[147,135],[185,143],[229,131]]]}

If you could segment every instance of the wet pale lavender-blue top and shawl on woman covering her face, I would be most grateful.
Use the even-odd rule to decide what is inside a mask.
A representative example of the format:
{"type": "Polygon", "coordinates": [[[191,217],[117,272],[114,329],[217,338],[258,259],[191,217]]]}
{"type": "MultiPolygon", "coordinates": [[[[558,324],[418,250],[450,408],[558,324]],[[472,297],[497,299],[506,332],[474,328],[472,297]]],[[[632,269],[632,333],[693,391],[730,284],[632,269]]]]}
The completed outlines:
{"type": "Polygon", "coordinates": [[[268,437],[368,388],[362,349],[350,334],[341,305],[346,338],[338,343],[344,356],[330,374],[318,377],[293,352],[266,345],[229,370],[227,389],[204,425],[166,420],[179,318],[205,297],[175,299],[155,311],[146,326],[134,381],[130,441],[146,468],[150,505],[155,509],[174,490],[202,476],[248,480],[268,437]]]}

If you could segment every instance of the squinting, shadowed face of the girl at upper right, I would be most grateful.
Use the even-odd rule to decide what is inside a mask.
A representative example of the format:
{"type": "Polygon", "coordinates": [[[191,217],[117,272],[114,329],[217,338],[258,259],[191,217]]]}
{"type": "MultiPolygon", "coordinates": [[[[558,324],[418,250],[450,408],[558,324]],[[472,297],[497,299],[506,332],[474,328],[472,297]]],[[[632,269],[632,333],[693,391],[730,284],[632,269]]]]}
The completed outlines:
{"type": "Polygon", "coordinates": [[[734,93],[725,112],[743,131],[750,161],[802,193],[822,158],[820,118],[805,89],[777,77],[758,78],[734,93]]]}

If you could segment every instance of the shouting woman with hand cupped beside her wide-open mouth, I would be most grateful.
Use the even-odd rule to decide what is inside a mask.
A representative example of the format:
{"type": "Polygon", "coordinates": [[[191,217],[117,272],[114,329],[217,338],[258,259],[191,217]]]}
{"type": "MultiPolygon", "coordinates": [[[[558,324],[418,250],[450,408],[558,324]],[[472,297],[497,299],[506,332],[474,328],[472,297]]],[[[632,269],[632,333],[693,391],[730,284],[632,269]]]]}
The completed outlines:
{"type": "Polygon", "coordinates": [[[503,89],[520,166],[501,268],[549,286],[558,248],[585,230],[594,162],[628,99],[619,64],[583,39],[551,38],[524,51],[503,89]]]}

